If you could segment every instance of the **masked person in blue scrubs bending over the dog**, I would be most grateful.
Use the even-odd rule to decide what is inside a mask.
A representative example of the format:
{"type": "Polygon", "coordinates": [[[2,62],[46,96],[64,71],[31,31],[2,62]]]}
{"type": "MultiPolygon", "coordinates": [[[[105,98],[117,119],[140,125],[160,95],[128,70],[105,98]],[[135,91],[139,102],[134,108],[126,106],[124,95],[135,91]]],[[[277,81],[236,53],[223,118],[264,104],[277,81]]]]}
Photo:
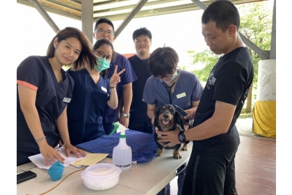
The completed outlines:
{"type": "MultiPolygon", "coordinates": [[[[203,87],[195,74],[180,70],[178,63],[179,56],[171,47],[159,47],[149,57],[148,68],[152,76],[146,81],[143,101],[147,103],[147,116],[152,119],[152,124],[156,107],[163,104],[176,104],[186,112],[184,118],[193,122],[203,87]]],[[[177,169],[177,173],[181,170],[182,167],[177,169]]],[[[182,192],[185,176],[186,169],[178,175],[177,194],[182,192]]],[[[166,189],[166,194],[170,194],[169,184],[166,189]]]]}

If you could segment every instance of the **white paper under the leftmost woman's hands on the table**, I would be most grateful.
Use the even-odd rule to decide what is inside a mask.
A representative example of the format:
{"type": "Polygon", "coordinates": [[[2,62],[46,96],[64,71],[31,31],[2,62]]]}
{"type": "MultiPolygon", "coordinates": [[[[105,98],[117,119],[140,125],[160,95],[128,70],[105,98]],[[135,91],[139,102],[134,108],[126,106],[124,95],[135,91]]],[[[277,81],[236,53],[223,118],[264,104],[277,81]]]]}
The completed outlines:
{"type": "MultiPolygon", "coordinates": [[[[86,157],[79,155],[78,158],[73,153],[70,153],[70,157],[67,157],[65,154],[65,148],[60,148],[58,150],[58,153],[60,153],[60,155],[65,158],[65,163],[63,164],[64,166],[69,166],[72,162],[75,162],[79,159],[85,159],[88,157],[88,155],[86,155],[86,157]]],[[[51,159],[49,159],[49,166],[46,166],[46,162],[42,154],[30,156],[29,159],[40,169],[49,169],[54,164],[54,162],[51,159]]]]}

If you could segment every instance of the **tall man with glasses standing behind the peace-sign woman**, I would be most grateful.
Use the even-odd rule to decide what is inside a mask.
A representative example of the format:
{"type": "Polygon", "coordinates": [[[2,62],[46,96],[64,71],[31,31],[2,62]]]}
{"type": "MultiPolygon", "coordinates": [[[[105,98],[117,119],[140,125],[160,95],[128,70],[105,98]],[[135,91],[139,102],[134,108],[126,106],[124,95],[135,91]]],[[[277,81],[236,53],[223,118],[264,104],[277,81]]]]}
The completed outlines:
{"type": "MultiPolygon", "coordinates": [[[[113,27],[113,22],[106,18],[99,18],[95,23],[95,32],[93,37],[95,40],[106,39],[110,42],[115,40],[115,29],[113,27]]],[[[117,109],[111,109],[106,105],[104,111],[104,116],[102,118],[104,125],[104,132],[106,134],[111,134],[113,131],[113,122],[119,121],[125,127],[129,127],[129,118],[130,118],[130,107],[131,100],[133,96],[132,92],[132,82],[137,80],[135,72],[131,67],[128,59],[121,54],[115,52],[115,59],[111,61],[111,66],[108,68],[108,77],[111,78],[113,71],[115,70],[115,65],[117,65],[117,72],[125,69],[120,75],[121,81],[117,84],[117,98],[119,99],[119,104],[117,109]],[[119,111],[122,111],[119,118],[119,111]]]]}

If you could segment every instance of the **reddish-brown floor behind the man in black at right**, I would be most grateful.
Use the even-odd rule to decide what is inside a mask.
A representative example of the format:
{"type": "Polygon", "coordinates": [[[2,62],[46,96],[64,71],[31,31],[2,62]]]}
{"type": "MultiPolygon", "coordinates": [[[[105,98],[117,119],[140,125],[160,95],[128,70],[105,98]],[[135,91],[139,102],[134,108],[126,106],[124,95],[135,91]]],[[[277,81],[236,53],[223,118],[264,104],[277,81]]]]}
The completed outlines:
{"type": "MultiPolygon", "coordinates": [[[[236,153],[236,189],[240,195],[276,194],[276,139],[252,133],[252,118],[238,118],[241,144],[236,153]]],[[[177,194],[177,177],[170,182],[170,195],[177,194]]]]}

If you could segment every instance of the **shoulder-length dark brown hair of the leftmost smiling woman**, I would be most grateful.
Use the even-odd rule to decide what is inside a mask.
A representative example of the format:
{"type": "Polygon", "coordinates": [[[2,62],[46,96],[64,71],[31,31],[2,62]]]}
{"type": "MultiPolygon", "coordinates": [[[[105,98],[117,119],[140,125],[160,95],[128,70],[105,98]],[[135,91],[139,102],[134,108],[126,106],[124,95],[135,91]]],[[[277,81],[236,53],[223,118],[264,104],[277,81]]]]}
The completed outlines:
{"type": "Polygon", "coordinates": [[[80,41],[82,49],[79,54],[78,59],[74,63],[72,63],[72,68],[79,69],[83,68],[86,64],[97,65],[97,57],[92,52],[92,45],[86,35],[81,32],[79,29],[74,27],[66,27],[65,29],[58,31],[56,36],[49,43],[49,47],[47,49],[47,56],[49,58],[53,58],[55,56],[55,47],[54,40],[58,38],[57,42],[61,42],[62,40],[66,40],[67,38],[74,37],[80,41]]]}

